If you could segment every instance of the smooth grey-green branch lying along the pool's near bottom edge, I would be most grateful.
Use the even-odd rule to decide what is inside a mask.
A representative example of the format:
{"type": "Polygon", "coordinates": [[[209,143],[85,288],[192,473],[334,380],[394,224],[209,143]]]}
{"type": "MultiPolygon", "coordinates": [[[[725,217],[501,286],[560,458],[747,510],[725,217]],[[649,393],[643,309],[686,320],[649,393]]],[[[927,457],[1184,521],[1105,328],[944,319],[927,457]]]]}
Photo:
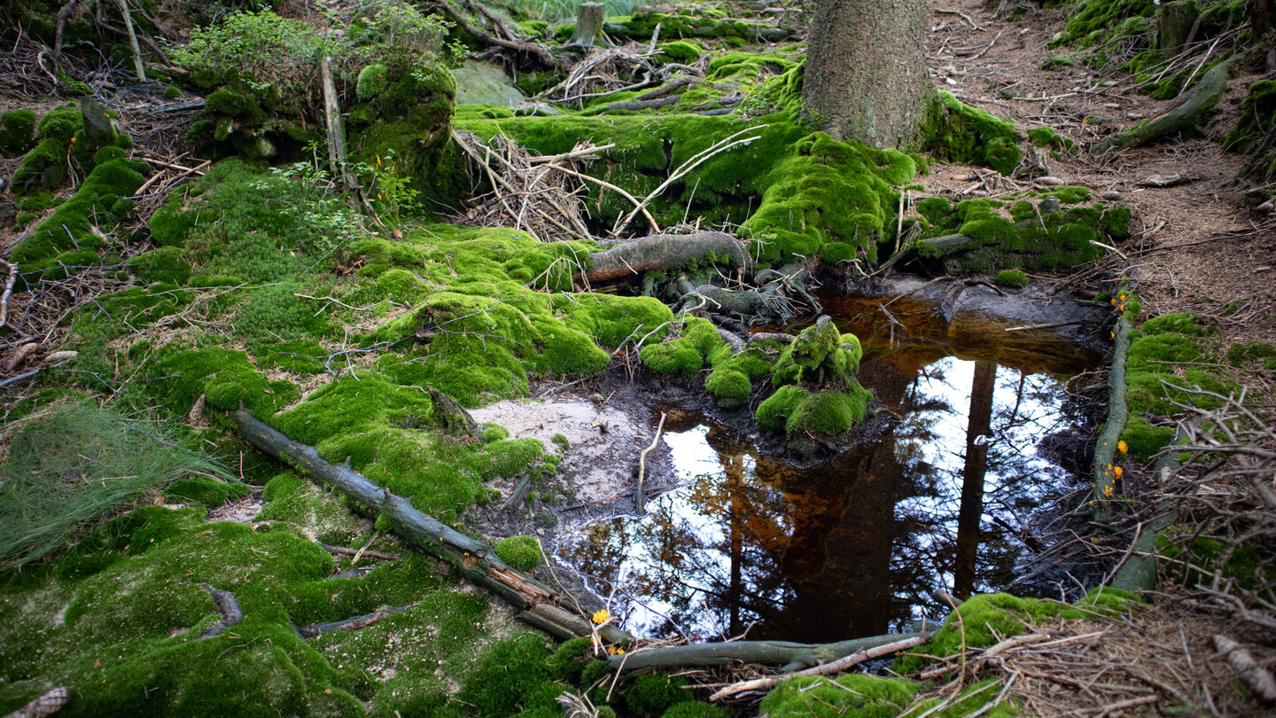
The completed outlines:
{"type": "Polygon", "coordinates": [[[607,664],[615,671],[643,668],[683,668],[688,666],[726,666],[730,663],[766,663],[792,668],[831,663],[857,650],[868,650],[923,634],[889,634],[826,644],[790,641],[731,641],[638,649],[612,655],[607,664]]]}

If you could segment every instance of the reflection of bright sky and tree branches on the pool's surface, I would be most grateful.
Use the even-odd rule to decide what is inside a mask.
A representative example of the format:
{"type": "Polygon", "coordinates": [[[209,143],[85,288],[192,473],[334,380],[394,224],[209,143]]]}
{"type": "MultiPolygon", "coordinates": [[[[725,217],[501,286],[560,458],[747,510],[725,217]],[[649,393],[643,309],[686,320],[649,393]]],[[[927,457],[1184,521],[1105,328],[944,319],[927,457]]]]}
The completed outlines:
{"type": "MultiPolygon", "coordinates": [[[[595,576],[591,588],[639,635],[731,635],[758,622],[750,638],[838,640],[898,629],[953,583],[974,367],[946,358],[896,382],[893,436],[809,471],[752,447],[720,454],[711,443],[732,442],[704,424],[666,432],[684,484],[643,519],[565,534],[559,554],[595,576]]],[[[1009,583],[1022,551],[1013,529],[1064,475],[1035,448],[1067,423],[1063,399],[1048,376],[997,370],[979,590],[1009,583]]]]}

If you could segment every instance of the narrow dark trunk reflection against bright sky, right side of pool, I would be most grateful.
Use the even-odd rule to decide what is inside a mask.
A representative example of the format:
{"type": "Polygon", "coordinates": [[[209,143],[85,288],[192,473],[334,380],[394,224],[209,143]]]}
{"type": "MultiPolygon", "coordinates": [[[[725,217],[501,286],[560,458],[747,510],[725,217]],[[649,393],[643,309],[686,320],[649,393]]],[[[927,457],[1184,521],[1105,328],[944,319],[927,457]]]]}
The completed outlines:
{"type": "Polygon", "coordinates": [[[966,466],[962,469],[961,508],[957,514],[957,557],[953,561],[953,593],[968,598],[975,589],[975,556],[979,551],[979,524],[984,515],[984,474],[988,471],[988,437],[993,422],[995,362],[975,362],[975,382],[970,392],[970,422],[966,424],[966,466]]]}

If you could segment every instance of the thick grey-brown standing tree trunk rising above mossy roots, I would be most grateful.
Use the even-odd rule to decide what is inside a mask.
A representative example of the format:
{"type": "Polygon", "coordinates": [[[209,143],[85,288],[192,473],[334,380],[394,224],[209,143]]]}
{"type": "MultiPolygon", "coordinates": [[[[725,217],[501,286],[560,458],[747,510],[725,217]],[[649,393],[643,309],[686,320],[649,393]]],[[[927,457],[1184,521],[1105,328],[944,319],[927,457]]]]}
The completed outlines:
{"type": "Polygon", "coordinates": [[[916,149],[935,101],[921,0],[819,0],[803,100],[808,120],[840,139],[916,149]]]}

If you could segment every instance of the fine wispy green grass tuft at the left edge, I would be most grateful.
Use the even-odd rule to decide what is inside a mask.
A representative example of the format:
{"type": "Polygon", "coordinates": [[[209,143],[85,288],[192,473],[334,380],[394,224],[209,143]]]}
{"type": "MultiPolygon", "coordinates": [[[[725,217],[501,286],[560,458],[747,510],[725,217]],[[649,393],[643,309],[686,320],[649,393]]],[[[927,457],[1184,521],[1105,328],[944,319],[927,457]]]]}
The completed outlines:
{"type": "Polygon", "coordinates": [[[170,442],[148,422],[92,404],[31,416],[0,468],[0,569],[71,547],[112,516],[153,501],[172,482],[234,482],[212,459],[170,442]]]}

